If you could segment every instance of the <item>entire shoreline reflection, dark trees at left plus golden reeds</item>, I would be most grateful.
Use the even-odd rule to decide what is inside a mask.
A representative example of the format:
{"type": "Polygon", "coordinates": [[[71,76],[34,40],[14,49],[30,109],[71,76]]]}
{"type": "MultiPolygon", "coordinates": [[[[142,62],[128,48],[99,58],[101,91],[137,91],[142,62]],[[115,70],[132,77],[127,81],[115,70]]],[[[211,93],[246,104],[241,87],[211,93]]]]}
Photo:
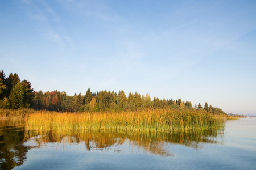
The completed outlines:
{"type": "MultiPolygon", "coordinates": [[[[80,143],[85,149],[125,152],[123,146],[151,155],[173,156],[168,146],[179,144],[200,148],[201,143],[217,143],[223,131],[183,131],[173,133],[139,133],[132,131],[29,131],[22,122],[0,122],[0,169],[12,169],[22,165],[31,148],[42,148],[47,143],[56,147],[80,143]]],[[[63,149],[64,149],[63,148],[63,149]]]]}

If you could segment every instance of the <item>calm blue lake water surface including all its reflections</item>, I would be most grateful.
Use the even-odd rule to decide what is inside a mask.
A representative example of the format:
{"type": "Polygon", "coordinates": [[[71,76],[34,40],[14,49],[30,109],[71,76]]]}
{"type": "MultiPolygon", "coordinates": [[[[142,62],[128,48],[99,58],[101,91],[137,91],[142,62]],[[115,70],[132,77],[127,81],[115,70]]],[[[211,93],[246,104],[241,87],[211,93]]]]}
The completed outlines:
{"type": "Polygon", "coordinates": [[[1,169],[255,169],[256,118],[224,131],[24,131],[0,126],[1,169]]]}

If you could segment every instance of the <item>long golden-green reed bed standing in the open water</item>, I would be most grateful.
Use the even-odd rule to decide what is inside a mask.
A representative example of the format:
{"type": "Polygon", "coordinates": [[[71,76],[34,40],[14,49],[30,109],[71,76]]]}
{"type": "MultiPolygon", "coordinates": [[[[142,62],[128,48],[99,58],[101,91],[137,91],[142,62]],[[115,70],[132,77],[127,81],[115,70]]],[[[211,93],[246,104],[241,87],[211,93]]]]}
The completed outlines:
{"type": "Polygon", "coordinates": [[[161,131],[218,129],[224,121],[204,111],[146,109],[133,112],[60,113],[36,111],[27,114],[27,130],[161,131]]]}

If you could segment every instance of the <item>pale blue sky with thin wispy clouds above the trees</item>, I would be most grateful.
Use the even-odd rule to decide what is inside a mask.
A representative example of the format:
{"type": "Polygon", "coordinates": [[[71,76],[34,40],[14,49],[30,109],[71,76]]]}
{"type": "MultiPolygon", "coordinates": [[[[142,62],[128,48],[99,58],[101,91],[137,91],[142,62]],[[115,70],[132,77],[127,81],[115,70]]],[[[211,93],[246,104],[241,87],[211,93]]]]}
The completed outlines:
{"type": "Polygon", "coordinates": [[[256,115],[256,1],[0,1],[0,69],[256,115]]]}

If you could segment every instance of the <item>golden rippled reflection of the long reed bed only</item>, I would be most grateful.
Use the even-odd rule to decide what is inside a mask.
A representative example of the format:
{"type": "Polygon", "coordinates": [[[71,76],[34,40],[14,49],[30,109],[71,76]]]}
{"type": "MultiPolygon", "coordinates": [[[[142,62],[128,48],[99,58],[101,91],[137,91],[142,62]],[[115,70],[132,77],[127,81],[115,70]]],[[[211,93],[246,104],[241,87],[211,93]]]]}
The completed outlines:
{"type": "Polygon", "coordinates": [[[49,142],[84,143],[86,150],[120,150],[122,145],[130,145],[148,154],[172,156],[168,149],[171,144],[200,148],[200,143],[217,143],[217,130],[176,131],[174,133],[139,133],[133,131],[31,131],[25,132],[26,141],[34,147],[43,147],[49,142]]]}

